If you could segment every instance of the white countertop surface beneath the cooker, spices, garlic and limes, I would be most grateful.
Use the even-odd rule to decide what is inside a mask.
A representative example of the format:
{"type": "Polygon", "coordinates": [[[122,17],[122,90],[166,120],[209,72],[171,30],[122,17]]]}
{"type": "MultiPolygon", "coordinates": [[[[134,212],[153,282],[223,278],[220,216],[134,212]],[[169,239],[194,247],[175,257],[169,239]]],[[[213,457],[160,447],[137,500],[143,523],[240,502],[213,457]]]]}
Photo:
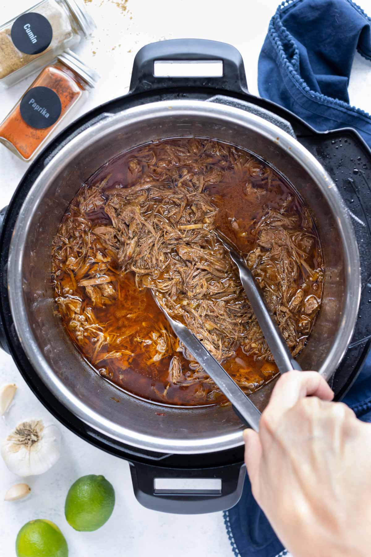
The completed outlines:
{"type": "MultiPolygon", "coordinates": [[[[36,2],[36,0],[35,0],[36,2]]],[[[86,0],[86,7],[98,25],[90,40],[76,52],[101,75],[96,89],[80,109],[85,113],[102,102],[128,90],[135,53],[149,42],[169,38],[209,38],[229,42],[244,57],[249,90],[258,94],[258,56],[268,23],[279,0],[86,0]]],[[[1,22],[31,6],[27,0],[1,0],[1,22]]],[[[371,14],[371,0],[362,0],[371,14]]],[[[31,84],[33,77],[0,93],[0,120],[31,84]]],[[[371,63],[356,56],[350,80],[351,103],[371,112],[371,63]]],[[[0,145],[0,208],[6,206],[27,169],[3,145],[0,145]]],[[[6,417],[0,419],[0,440],[26,418],[56,422],[27,387],[10,356],[0,351],[0,386],[16,383],[18,392],[6,417]]],[[[232,557],[221,513],[209,515],[168,515],[149,511],[136,501],[128,464],[92,447],[58,425],[63,448],[60,461],[42,476],[26,481],[32,495],[18,503],[3,502],[6,490],[20,478],[8,471],[0,458],[0,554],[15,555],[14,543],[19,528],[28,520],[45,518],[55,521],[66,536],[70,557],[106,557],[108,555],[152,557],[232,557]],[[115,510],[105,526],[96,532],[75,532],[63,512],[70,485],[89,473],[103,474],[115,487],[115,510]]],[[[272,556],[274,557],[274,556],[272,556]]]]}

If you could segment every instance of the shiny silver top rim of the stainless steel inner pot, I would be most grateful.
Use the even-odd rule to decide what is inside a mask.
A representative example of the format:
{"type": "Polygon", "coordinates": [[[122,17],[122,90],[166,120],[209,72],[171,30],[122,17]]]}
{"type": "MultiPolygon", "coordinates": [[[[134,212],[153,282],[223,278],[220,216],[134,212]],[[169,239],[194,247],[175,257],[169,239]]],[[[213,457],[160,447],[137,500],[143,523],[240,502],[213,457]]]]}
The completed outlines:
{"type": "MultiPolygon", "coordinates": [[[[63,382],[53,373],[33,338],[32,329],[28,324],[26,307],[24,303],[20,303],[20,301],[23,301],[22,261],[29,223],[31,222],[32,213],[38,204],[38,199],[42,197],[41,192],[46,188],[48,177],[54,173],[54,169],[59,167],[59,165],[66,164],[66,162],[68,164],[68,161],[75,157],[76,152],[81,149],[82,145],[85,147],[88,143],[92,143],[96,136],[111,133],[112,130],[120,129],[125,124],[138,122],[143,124],[144,119],[168,115],[169,109],[171,109],[173,117],[182,116],[186,113],[196,118],[200,111],[206,115],[210,115],[210,112],[212,112],[213,118],[222,119],[225,125],[236,123],[246,128],[258,128],[261,135],[265,136],[266,139],[275,142],[279,141],[280,146],[291,157],[296,159],[319,185],[324,197],[327,198],[335,214],[337,214],[339,231],[344,247],[344,259],[349,273],[353,272],[353,274],[352,280],[348,281],[348,292],[345,297],[341,329],[327,358],[325,358],[323,365],[318,370],[325,379],[331,377],[342,360],[352,338],[358,315],[361,290],[358,245],[347,207],[329,174],[299,141],[260,116],[248,113],[240,108],[218,105],[214,102],[199,100],[158,101],[126,109],[117,114],[110,114],[104,120],[98,121],[72,138],[53,158],[50,158],[48,164],[38,175],[27,197],[24,199],[14,225],[8,260],[9,303],[19,340],[33,368],[38,370],[39,377],[52,391],[53,395],[70,412],[88,424],[88,426],[106,436],[115,438],[117,441],[150,451],[180,454],[216,452],[243,444],[242,429],[224,436],[199,440],[193,439],[191,441],[184,439],[180,441],[178,439],[165,439],[137,434],[129,429],[118,426],[108,419],[102,418],[100,414],[92,411],[75,395],[71,395],[63,382]]],[[[185,411],[188,412],[188,410],[185,411]]]]}

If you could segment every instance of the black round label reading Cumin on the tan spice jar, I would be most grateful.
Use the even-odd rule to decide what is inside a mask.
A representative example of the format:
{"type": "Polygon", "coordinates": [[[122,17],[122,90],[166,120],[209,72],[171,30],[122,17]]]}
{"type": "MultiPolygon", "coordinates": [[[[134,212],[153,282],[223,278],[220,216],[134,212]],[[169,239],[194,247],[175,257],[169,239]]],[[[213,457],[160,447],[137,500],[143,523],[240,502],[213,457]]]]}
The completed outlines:
{"type": "Polygon", "coordinates": [[[11,31],[14,45],[26,54],[39,54],[52,42],[53,30],[41,13],[24,13],[17,17],[11,31]]]}

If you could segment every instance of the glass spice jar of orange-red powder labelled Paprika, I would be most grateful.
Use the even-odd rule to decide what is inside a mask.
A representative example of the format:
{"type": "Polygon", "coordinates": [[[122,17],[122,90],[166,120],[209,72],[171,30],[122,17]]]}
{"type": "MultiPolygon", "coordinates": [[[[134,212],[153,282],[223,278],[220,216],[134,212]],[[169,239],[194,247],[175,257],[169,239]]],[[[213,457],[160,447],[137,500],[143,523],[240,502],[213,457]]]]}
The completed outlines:
{"type": "Polygon", "coordinates": [[[58,124],[99,79],[71,50],[46,66],[0,124],[0,141],[31,160],[58,124]]]}

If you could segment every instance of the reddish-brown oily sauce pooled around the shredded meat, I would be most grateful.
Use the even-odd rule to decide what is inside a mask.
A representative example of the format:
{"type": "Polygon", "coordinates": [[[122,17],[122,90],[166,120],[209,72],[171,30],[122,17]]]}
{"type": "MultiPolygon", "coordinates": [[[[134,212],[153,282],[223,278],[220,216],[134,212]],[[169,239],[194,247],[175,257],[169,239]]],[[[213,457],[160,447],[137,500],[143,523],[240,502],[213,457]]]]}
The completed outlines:
{"type": "MultiPolygon", "coordinates": [[[[161,160],[160,155],[161,153],[164,155],[166,146],[187,149],[190,141],[190,139],[160,141],[150,144],[150,149],[161,160]]],[[[207,144],[207,140],[200,141],[207,144]]],[[[214,143],[217,144],[218,142],[214,143]]],[[[124,153],[102,167],[88,180],[85,185],[85,192],[93,190],[97,184],[102,183],[105,179],[107,181],[102,190],[103,198],[105,198],[105,192],[112,191],[112,188],[121,189],[136,184],[138,175],[133,176],[130,172],[130,162],[136,159],[141,160],[143,149],[143,146],[140,146],[124,153]]],[[[221,170],[222,179],[217,183],[211,182],[205,185],[203,193],[206,193],[210,197],[211,203],[219,209],[216,215],[216,227],[235,243],[246,260],[249,261],[249,254],[254,254],[254,250],[258,246],[256,225],[269,209],[280,211],[286,204],[285,215],[295,217],[299,223],[299,229],[301,226],[304,227],[304,221],[308,222],[310,217],[308,217],[308,211],[298,194],[278,173],[258,158],[253,157],[249,152],[236,148],[235,150],[249,158],[250,164],[248,167],[231,164],[230,159],[225,154],[215,153],[210,155],[208,153],[207,169],[216,168],[221,170]]],[[[179,164],[172,160],[169,164],[170,167],[167,168],[179,169],[181,167],[183,171],[194,171],[194,167],[186,163],[179,164]]],[[[148,166],[143,163],[142,174],[146,172],[148,172],[148,166]]],[[[78,213],[80,211],[78,205],[81,203],[81,199],[78,197],[79,193],[72,200],[65,217],[63,217],[62,224],[66,222],[68,217],[75,216],[77,218],[80,214],[78,213]]],[[[85,218],[88,219],[91,229],[97,226],[111,226],[112,224],[111,218],[105,212],[104,204],[93,209],[90,208],[85,214],[85,218]]],[[[81,228],[83,229],[83,225],[81,225],[81,228]]],[[[306,229],[308,230],[308,223],[306,229]]],[[[295,276],[295,281],[293,281],[295,283],[293,292],[295,288],[302,289],[304,300],[315,296],[315,299],[320,302],[322,258],[319,240],[313,224],[310,233],[314,238],[313,246],[311,246],[309,253],[302,256],[304,263],[300,265],[299,272],[295,276]]],[[[215,389],[214,384],[206,383],[204,380],[192,379],[195,373],[192,361],[186,359],[181,352],[175,352],[177,340],[174,333],[172,333],[165,316],[152,299],[151,291],[149,289],[138,290],[134,272],[122,273],[120,265],[114,258],[111,258],[104,273],[110,276],[110,285],[112,285],[112,291],[115,291],[115,301],[112,303],[109,294],[107,294],[107,304],[103,304],[103,306],[95,305],[92,303],[91,295],[87,294],[86,287],[79,286],[78,282],[87,276],[91,276],[94,265],[96,265],[97,273],[99,273],[98,266],[103,264],[107,266],[107,262],[100,263],[91,254],[85,254],[85,267],[79,263],[80,268],[77,268],[77,270],[73,268],[73,265],[69,268],[68,256],[72,257],[73,253],[68,246],[65,247],[66,242],[58,242],[55,243],[56,247],[53,251],[53,281],[57,301],[61,299],[66,301],[68,298],[70,301],[76,300],[78,305],[81,302],[75,314],[71,309],[72,306],[68,305],[70,302],[67,302],[67,305],[64,302],[63,304],[59,302],[58,309],[73,343],[93,368],[126,392],[157,403],[188,406],[225,402],[224,396],[215,389]],[[61,255],[62,252],[65,255],[61,255]],[[80,276],[81,268],[86,270],[82,276],[80,276]],[[73,278],[71,275],[73,275],[73,278]],[[79,319],[79,315],[83,314],[86,307],[91,308],[92,319],[95,323],[94,330],[98,333],[102,330],[105,331],[105,338],[109,339],[109,350],[107,342],[97,350],[100,337],[99,334],[95,335],[91,330],[77,335],[76,331],[78,329],[76,329],[75,321],[79,319]],[[165,335],[166,338],[170,339],[166,344],[165,353],[159,361],[154,361],[153,343],[150,342],[154,334],[157,335],[156,338],[165,335]],[[148,344],[146,344],[146,340],[148,344]],[[108,356],[112,351],[120,352],[120,357],[108,356]],[[105,355],[108,357],[105,357],[105,355]],[[179,385],[169,380],[169,367],[174,355],[180,360],[184,377],[190,379],[189,384],[179,385]]],[[[110,253],[105,250],[103,245],[100,245],[97,241],[93,242],[92,245],[95,253],[97,250],[100,252],[102,260],[110,259],[110,253]]],[[[262,249],[264,251],[265,248],[262,249]]],[[[82,258],[83,256],[81,253],[76,253],[75,259],[78,257],[82,258]]],[[[274,267],[274,262],[272,266],[274,267]]],[[[269,271],[269,265],[267,268],[269,271]]],[[[104,275],[104,273],[102,274],[104,275]]],[[[275,276],[275,278],[277,277],[275,276]]],[[[266,273],[265,280],[268,281],[268,284],[269,280],[266,273]]],[[[311,314],[305,315],[303,311],[298,312],[297,319],[295,315],[298,331],[301,323],[305,323],[305,339],[311,326],[313,326],[316,313],[319,310],[319,302],[318,307],[311,314]]],[[[297,333],[296,340],[298,342],[300,338],[300,333],[297,333]]],[[[152,340],[155,341],[155,338],[152,340]]],[[[278,373],[278,369],[271,358],[259,357],[256,354],[246,354],[245,352],[244,346],[239,346],[233,356],[222,361],[222,365],[231,377],[238,382],[243,381],[244,390],[249,393],[273,378],[278,373]]]]}

